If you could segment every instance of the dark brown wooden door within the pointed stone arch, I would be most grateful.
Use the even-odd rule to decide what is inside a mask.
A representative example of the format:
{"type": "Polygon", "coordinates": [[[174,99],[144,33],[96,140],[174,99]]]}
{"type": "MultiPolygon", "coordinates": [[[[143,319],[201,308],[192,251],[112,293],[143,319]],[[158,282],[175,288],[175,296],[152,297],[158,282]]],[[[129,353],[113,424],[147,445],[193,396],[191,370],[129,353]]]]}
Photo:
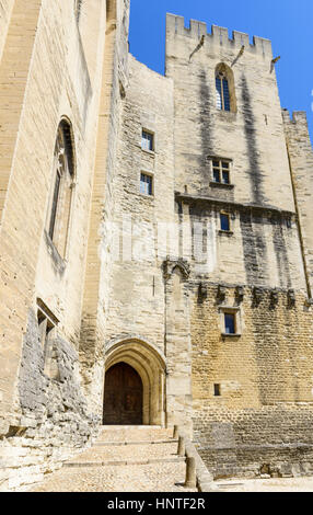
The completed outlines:
{"type": "Polygon", "coordinates": [[[105,374],[103,424],[142,424],[143,388],[139,374],[126,363],[113,365],[105,374]]]}

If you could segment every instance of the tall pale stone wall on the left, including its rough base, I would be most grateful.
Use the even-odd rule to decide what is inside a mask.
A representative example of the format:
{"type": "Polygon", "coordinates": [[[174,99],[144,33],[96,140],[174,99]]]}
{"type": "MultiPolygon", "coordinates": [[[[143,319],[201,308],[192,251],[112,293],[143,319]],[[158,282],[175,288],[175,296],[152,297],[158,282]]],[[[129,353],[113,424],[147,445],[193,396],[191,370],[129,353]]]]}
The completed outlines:
{"type": "Polygon", "coordinates": [[[25,8],[16,0],[0,62],[0,94],[5,96],[0,110],[5,150],[0,152],[3,490],[32,482],[59,466],[86,444],[100,423],[83,398],[78,351],[103,60],[115,41],[113,49],[107,47],[106,3],[94,2],[88,20],[95,45],[91,62],[74,2],[32,1],[25,8]],[[21,61],[16,34],[23,46],[21,61]],[[63,256],[46,230],[62,117],[71,124],[74,156],[63,256]],[[42,333],[38,341],[39,305],[55,324],[48,356],[42,333]]]}

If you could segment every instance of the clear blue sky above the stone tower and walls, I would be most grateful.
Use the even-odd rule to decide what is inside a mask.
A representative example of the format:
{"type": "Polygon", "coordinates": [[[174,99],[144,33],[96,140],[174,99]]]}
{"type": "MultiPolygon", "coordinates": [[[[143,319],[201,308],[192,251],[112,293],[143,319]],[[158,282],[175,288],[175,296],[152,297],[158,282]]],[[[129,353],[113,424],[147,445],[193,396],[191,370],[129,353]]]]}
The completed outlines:
{"type": "Polygon", "coordinates": [[[306,111],[313,140],[312,0],[130,0],[130,53],[164,73],[166,12],[271,39],[281,106],[306,111]]]}

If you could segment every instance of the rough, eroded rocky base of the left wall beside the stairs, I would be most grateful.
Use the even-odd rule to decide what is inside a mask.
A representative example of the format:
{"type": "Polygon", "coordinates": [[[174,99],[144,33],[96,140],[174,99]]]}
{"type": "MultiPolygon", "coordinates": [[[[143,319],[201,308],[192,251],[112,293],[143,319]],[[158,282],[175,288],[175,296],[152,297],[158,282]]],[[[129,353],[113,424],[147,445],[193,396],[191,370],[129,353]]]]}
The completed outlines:
{"type": "Polygon", "coordinates": [[[50,339],[49,366],[31,311],[19,376],[21,417],[0,440],[0,491],[42,481],[96,436],[100,420],[82,394],[78,353],[50,339]]]}

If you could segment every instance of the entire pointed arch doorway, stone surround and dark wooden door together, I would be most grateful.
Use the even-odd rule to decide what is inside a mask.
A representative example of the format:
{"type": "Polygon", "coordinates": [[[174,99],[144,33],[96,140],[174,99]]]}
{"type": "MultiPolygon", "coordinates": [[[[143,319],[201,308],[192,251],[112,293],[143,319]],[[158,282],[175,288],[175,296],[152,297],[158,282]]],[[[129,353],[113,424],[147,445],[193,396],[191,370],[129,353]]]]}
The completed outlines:
{"type": "Polygon", "coordinates": [[[111,340],[105,351],[103,424],[164,425],[165,374],[165,356],[151,342],[138,335],[111,340]]]}

